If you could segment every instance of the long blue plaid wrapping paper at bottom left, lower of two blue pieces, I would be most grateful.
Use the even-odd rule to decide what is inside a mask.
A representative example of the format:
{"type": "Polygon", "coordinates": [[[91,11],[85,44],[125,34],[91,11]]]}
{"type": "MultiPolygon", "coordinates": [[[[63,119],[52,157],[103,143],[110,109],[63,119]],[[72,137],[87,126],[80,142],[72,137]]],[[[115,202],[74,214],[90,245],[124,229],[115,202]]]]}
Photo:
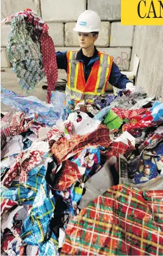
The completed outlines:
{"type": "MultiPolygon", "coordinates": [[[[29,217],[24,221],[21,229],[21,239],[25,244],[38,246],[42,250],[43,244],[48,241],[49,223],[55,209],[54,196],[45,178],[35,196],[29,217]]],[[[40,254],[39,254],[40,255],[40,254]]],[[[42,255],[42,254],[41,254],[42,255]]]]}

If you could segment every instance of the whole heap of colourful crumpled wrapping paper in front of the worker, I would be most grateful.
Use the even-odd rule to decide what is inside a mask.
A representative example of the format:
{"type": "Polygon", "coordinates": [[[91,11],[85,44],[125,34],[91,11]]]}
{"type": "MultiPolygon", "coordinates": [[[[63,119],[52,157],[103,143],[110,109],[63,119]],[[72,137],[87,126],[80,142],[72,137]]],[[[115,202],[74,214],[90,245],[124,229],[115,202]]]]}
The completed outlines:
{"type": "Polygon", "coordinates": [[[1,88],[2,255],[162,255],[163,104],[1,88]]]}

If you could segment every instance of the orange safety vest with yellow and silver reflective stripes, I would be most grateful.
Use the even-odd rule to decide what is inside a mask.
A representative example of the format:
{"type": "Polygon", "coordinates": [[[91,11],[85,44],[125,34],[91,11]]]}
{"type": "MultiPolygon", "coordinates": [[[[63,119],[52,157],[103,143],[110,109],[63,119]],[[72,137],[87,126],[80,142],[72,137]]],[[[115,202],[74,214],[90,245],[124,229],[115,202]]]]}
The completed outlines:
{"type": "Polygon", "coordinates": [[[112,69],[112,57],[106,53],[99,52],[100,60],[93,64],[92,71],[85,83],[83,65],[81,61],[76,60],[76,51],[67,52],[67,85],[66,95],[76,98],[78,101],[103,95],[107,88],[110,72],[112,69]]]}

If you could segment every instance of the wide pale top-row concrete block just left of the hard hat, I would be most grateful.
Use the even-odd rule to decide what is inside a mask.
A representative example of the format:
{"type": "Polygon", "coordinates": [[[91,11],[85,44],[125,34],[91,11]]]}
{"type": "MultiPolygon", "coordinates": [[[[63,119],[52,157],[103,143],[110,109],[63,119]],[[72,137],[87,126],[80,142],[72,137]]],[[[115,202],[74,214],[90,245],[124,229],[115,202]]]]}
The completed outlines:
{"type": "Polygon", "coordinates": [[[85,7],[86,0],[41,0],[42,18],[45,21],[76,21],[85,7]]]}

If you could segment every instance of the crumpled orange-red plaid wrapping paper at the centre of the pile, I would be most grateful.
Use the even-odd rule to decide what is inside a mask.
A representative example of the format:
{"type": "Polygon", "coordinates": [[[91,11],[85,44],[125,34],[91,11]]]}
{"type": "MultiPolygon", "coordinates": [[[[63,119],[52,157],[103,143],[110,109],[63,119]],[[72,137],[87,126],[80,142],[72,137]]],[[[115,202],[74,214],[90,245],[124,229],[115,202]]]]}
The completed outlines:
{"type": "Polygon", "coordinates": [[[57,163],[60,164],[67,158],[69,153],[74,153],[74,155],[76,155],[76,153],[81,152],[85,146],[101,145],[103,147],[108,147],[109,143],[109,129],[105,125],[100,125],[93,131],[93,133],[88,133],[83,136],[74,134],[71,136],[71,139],[59,139],[53,144],[51,152],[53,152],[56,157],[57,163]]]}

